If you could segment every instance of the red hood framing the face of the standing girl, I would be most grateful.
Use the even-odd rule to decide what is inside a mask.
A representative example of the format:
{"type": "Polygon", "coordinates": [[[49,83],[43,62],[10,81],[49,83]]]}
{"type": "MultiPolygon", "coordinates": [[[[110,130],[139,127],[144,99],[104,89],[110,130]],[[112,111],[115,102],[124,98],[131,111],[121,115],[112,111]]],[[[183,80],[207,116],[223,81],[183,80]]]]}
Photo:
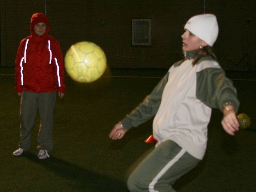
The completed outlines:
{"type": "MultiPolygon", "coordinates": [[[[34,27],[38,23],[45,23],[46,24],[46,31],[44,35],[47,35],[50,28],[49,28],[49,20],[47,16],[44,13],[34,13],[30,20],[30,33],[32,36],[36,36],[36,33],[34,31],[34,27]]],[[[44,36],[43,35],[43,36],[44,36]]]]}

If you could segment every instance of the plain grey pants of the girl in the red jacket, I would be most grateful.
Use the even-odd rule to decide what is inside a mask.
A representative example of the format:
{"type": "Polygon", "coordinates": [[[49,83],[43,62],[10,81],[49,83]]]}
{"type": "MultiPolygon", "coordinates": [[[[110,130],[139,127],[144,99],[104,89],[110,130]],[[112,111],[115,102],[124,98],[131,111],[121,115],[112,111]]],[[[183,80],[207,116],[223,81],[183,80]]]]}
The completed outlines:
{"type": "Polygon", "coordinates": [[[20,148],[29,150],[31,146],[31,129],[34,126],[37,109],[41,118],[37,142],[38,149],[53,149],[53,112],[56,92],[23,92],[20,100],[20,148]]]}

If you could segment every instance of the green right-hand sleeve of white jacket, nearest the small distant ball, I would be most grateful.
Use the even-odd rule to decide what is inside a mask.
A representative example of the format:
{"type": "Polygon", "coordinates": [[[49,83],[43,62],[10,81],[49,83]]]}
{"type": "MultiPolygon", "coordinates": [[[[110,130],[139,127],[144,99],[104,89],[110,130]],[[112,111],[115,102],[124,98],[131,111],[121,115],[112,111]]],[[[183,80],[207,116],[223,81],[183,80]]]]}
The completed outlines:
{"type": "Polygon", "coordinates": [[[196,98],[220,111],[228,102],[235,106],[237,112],[240,104],[236,88],[222,68],[206,68],[196,73],[196,98]]]}

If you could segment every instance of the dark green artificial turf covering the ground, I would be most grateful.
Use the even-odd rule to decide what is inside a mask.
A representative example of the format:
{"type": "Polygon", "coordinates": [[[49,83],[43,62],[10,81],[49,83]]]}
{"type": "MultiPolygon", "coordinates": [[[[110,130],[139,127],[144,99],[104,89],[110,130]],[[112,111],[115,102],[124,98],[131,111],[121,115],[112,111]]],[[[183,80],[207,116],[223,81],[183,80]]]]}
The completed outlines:
{"type": "MultiPolygon", "coordinates": [[[[108,133],[167,70],[108,69],[91,84],[77,84],[67,76],[65,97],[56,102],[54,150],[45,160],[36,156],[39,116],[29,153],[12,155],[20,134],[20,98],[14,91],[13,70],[0,67],[0,74],[5,74],[0,75],[0,191],[127,192],[127,175],[154,147],[144,142],[152,133],[152,120],[131,129],[122,140],[110,140],[108,133]]],[[[227,75],[238,91],[238,113],[247,113],[252,125],[229,136],[221,127],[221,112],[213,109],[204,160],[174,184],[180,192],[256,189],[255,73],[227,75]]]]}

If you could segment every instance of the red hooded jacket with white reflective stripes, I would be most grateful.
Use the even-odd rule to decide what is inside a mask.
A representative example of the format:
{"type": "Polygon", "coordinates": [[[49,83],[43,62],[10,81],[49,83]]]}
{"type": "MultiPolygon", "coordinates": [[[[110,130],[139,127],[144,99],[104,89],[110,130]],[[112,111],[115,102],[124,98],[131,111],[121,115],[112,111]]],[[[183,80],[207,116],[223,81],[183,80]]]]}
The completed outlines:
{"type": "Polygon", "coordinates": [[[48,35],[49,21],[43,13],[35,13],[30,21],[31,35],[22,39],[15,59],[16,92],[65,93],[65,69],[59,42],[48,35]],[[46,24],[43,36],[34,32],[38,23],[46,24]]]}

